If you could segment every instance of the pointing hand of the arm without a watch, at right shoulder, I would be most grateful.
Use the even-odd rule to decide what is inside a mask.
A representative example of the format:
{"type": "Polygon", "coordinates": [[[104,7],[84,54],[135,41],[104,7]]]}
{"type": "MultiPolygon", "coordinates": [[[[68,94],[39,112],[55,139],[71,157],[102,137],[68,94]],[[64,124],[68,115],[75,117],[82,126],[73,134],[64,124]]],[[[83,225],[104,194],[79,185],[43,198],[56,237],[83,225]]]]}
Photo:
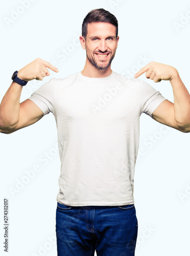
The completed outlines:
{"type": "Polygon", "coordinates": [[[139,77],[145,72],[146,77],[150,78],[154,82],[160,82],[161,80],[171,80],[177,74],[177,70],[174,67],[151,61],[148,65],[138,71],[134,75],[134,78],[139,77]]]}

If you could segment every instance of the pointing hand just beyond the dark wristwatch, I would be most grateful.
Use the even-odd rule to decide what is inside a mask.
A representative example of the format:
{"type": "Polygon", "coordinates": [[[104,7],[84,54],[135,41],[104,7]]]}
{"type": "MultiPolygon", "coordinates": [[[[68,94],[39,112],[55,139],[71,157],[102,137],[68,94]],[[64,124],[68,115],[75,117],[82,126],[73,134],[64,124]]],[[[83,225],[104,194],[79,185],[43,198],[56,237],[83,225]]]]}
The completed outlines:
{"type": "Polygon", "coordinates": [[[33,79],[43,80],[45,76],[49,76],[49,71],[47,68],[51,69],[52,71],[59,72],[59,70],[51,65],[51,63],[37,58],[20,69],[17,76],[24,81],[31,81],[33,79]]]}

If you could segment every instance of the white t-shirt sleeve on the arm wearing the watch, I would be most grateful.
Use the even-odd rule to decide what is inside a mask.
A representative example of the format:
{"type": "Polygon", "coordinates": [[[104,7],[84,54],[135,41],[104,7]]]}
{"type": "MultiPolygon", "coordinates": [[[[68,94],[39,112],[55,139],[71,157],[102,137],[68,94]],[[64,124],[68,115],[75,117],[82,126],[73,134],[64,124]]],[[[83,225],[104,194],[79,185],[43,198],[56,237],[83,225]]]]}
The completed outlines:
{"type": "Polygon", "coordinates": [[[51,78],[36,90],[31,97],[32,100],[43,112],[44,115],[53,113],[54,79],[51,78]]]}

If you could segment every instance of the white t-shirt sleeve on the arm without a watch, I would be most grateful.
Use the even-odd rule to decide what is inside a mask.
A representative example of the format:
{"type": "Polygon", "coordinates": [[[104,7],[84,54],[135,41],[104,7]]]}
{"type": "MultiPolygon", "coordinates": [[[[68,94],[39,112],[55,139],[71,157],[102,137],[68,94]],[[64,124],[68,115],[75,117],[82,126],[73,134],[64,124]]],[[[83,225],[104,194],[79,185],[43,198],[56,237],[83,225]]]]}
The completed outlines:
{"type": "Polygon", "coordinates": [[[156,91],[150,84],[143,80],[139,80],[140,84],[140,97],[142,105],[142,113],[145,113],[152,117],[152,113],[158,107],[158,105],[166,100],[159,91],[156,91]]]}

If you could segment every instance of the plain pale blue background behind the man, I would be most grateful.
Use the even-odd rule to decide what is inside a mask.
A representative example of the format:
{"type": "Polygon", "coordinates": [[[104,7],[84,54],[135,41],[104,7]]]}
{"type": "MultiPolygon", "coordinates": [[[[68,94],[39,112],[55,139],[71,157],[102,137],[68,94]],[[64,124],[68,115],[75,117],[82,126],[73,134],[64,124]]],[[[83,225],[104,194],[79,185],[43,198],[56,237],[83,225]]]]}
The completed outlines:
{"type": "MultiPolygon", "coordinates": [[[[43,81],[30,81],[23,88],[21,101],[51,77],[64,78],[82,71],[86,52],[78,37],[84,17],[96,8],[104,8],[118,19],[120,39],[112,70],[133,78],[128,71],[134,74],[150,61],[165,63],[178,70],[190,89],[189,1],[12,0],[1,5],[1,99],[13,72],[37,57],[51,62],[60,72],[51,72],[43,81]],[[67,56],[63,55],[64,49],[67,56]]],[[[140,79],[173,102],[169,81],[154,83],[145,74],[140,79]]],[[[52,114],[46,115],[13,134],[0,134],[0,140],[1,255],[7,255],[3,251],[3,199],[8,198],[9,255],[55,256],[60,175],[55,119],[52,114]],[[47,152],[52,158],[40,161],[47,152]],[[17,181],[36,165],[40,172],[11,194],[10,187],[16,188],[17,181]]],[[[188,133],[167,129],[145,114],[141,116],[140,154],[134,176],[139,222],[137,256],[189,255],[189,142],[188,133]]]]}

